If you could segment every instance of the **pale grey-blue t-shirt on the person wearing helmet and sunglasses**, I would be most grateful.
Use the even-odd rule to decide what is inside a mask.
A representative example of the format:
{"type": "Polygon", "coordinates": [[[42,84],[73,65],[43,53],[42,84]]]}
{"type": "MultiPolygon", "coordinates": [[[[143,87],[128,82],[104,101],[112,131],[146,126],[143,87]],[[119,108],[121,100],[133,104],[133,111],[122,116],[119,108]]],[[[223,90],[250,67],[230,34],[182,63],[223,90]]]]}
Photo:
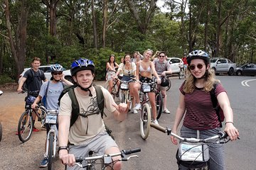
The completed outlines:
{"type": "Polygon", "coordinates": [[[53,81],[46,81],[41,86],[39,95],[43,98],[46,94],[46,88],[48,86],[47,97],[46,97],[46,108],[48,110],[58,110],[58,98],[61,91],[63,91],[63,83],[58,81],[57,84],[54,84],[53,81]],[[48,86],[48,83],[49,86],[48,86]]]}

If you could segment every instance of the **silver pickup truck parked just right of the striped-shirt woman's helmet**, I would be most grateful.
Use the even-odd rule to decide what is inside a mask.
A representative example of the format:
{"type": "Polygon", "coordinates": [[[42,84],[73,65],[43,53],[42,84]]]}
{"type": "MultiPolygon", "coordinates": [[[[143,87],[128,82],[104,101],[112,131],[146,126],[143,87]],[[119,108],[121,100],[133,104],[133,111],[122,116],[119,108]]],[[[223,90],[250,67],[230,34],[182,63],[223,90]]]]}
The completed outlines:
{"type": "Polygon", "coordinates": [[[233,76],[236,64],[226,58],[211,58],[210,68],[215,71],[215,74],[228,73],[228,75],[233,76]]]}

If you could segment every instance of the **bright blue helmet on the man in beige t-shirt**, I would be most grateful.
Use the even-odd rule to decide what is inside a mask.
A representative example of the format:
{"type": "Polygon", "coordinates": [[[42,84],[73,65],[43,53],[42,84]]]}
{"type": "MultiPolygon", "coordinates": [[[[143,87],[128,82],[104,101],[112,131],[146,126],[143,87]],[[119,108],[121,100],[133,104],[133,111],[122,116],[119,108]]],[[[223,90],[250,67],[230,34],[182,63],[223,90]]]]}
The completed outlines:
{"type": "Polygon", "coordinates": [[[80,58],[79,60],[75,60],[71,64],[71,75],[75,76],[75,74],[81,70],[90,69],[92,74],[95,72],[95,64],[91,60],[80,58]]]}

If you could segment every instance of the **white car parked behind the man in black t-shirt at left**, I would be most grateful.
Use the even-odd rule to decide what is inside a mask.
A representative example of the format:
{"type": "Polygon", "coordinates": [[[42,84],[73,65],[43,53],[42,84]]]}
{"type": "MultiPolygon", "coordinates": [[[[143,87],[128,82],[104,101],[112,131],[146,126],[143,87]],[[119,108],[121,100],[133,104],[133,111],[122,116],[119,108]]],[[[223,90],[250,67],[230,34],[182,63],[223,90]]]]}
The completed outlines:
{"type": "MultiPolygon", "coordinates": [[[[51,65],[49,64],[49,65],[39,67],[39,69],[41,69],[44,72],[44,74],[46,75],[46,79],[48,79],[48,80],[50,80],[50,77],[52,77],[51,74],[50,74],[50,66],[51,65]]],[[[18,82],[20,81],[21,77],[23,77],[24,73],[28,69],[31,69],[31,67],[30,68],[25,68],[23,70],[23,72],[19,76],[18,82]]],[[[72,76],[71,76],[71,73],[70,73],[70,69],[64,69],[63,74],[65,75],[65,79],[74,83],[74,80],[72,79],[72,76]]]]}

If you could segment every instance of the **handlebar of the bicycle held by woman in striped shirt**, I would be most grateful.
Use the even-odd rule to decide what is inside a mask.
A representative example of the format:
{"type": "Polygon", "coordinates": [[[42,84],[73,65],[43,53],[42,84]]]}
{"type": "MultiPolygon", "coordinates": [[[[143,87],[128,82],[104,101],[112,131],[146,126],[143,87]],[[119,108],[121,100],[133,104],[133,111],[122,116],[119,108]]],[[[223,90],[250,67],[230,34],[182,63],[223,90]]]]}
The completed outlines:
{"type": "MultiPolygon", "coordinates": [[[[171,135],[173,137],[176,137],[178,140],[181,140],[183,142],[191,142],[191,143],[198,143],[198,142],[203,142],[203,143],[213,143],[215,141],[216,143],[227,143],[230,141],[230,138],[228,137],[227,132],[218,132],[218,135],[215,135],[213,137],[208,137],[206,139],[196,139],[194,137],[181,137],[179,135],[176,135],[175,133],[171,132],[171,128],[163,128],[160,125],[156,125],[154,123],[150,123],[150,126],[155,128],[156,130],[159,130],[161,132],[167,133],[167,135],[171,135]]],[[[238,138],[240,139],[240,138],[238,138]]]]}

